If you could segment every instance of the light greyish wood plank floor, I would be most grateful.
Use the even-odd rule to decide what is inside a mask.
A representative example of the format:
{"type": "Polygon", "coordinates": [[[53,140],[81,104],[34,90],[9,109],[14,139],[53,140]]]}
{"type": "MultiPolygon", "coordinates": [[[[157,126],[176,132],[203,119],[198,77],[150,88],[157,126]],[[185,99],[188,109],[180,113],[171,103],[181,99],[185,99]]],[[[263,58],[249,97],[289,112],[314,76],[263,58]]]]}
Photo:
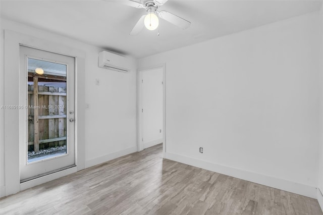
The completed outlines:
{"type": "Polygon", "coordinates": [[[323,214],[316,199],[161,157],[161,145],[0,200],[1,214],[323,214]]]}

